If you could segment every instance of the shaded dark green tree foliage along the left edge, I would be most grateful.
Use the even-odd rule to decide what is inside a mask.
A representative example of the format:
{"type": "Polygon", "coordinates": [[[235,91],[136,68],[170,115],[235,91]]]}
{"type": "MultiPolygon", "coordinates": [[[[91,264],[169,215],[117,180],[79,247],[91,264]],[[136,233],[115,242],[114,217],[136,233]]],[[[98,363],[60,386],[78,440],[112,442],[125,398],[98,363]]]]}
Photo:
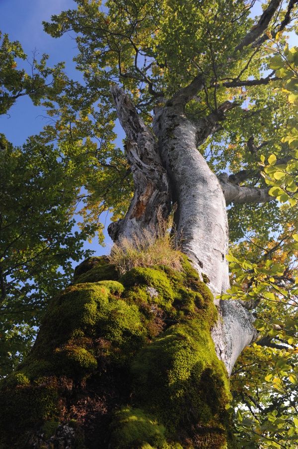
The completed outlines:
{"type": "MultiPolygon", "coordinates": [[[[1,34],[0,34],[1,37],[1,34]]],[[[20,44],[7,35],[0,45],[0,113],[29,95],[34,104],[61,93],[67,83],[62,67],[46,67],[35,57],[32,74],[17,68],[25,59],[20,44]]],[[[49,134],[31,136],[13,147],[0,134],[0,376],[19,363],[36,337],[48,298],[68,285],[71,260],[88,256],[84,240],[92,235],[85,224],[73,232],[74,211],[83,197],[79,153],[63,143],[54,148],[49,134]]]]}

